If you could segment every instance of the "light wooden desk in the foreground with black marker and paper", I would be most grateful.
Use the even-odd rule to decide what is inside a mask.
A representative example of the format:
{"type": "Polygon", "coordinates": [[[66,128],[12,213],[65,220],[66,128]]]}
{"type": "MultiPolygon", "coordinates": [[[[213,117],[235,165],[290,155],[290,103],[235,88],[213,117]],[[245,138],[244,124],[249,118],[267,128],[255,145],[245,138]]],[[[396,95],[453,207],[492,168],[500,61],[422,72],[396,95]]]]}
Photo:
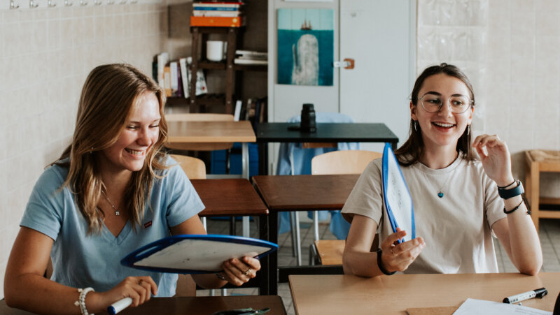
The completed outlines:
{"type": "Polygon", "coordinates": [[[407,314],[406,309],[417,307],[458,307],[467,298],[502,302],[506,296],[543,286],[548,295],[522,303],[552,312],[560,272],[535,277],[519,273],[290,276],[293,305],[300,315],[407,314]]]}

